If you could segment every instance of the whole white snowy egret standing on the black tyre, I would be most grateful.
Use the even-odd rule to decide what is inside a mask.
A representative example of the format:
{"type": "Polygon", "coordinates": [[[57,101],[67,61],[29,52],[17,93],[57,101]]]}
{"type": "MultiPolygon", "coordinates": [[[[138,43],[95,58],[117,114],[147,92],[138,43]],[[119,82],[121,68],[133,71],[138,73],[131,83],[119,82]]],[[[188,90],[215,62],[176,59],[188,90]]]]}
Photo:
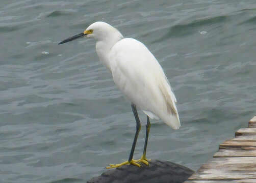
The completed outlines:
{"type": "Polygon", "coordinates": [[[92,23],[83,33],[72,36],[59,44],[82,37],[96,40],[99,60],[109,69],[115,84],[125,98],[131,101],[136,120],[136,133],[128,161],[116,165],[110,164],[107,168],[126,164],[140,167],[141,165],[137,162],[148,165],[146,148],[150,130],[149,118],[160,118],[175,130],[181,126],[175,105],[176,98],[162,67],[143,43],[132,38],[123,38],[116,28],[105,22],[92,23]],[[139,160],[133,159],[141,129],[136,106],[147,115],[144,150],[139,160]]]}

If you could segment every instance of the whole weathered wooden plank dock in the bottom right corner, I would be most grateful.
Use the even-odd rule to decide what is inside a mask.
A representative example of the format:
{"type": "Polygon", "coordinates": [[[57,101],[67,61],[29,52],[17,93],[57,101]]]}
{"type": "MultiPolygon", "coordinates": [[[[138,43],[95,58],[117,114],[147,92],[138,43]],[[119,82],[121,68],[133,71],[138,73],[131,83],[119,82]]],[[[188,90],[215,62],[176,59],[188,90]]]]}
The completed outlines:
{"type": "Polygon", "coordinates": [[[203,164],[185,183],[256,182],[256,116],[219,145],[213,159],[203,164]]]}

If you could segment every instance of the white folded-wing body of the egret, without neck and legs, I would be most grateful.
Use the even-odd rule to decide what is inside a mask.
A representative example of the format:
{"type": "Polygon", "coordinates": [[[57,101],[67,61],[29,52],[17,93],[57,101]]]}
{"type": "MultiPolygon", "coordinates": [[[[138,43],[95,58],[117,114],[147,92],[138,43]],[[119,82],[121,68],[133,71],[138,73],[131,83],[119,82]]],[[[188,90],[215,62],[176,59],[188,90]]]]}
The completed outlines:
{"type": "Polygon", "coordinates": [[[161,118],[173,129],[180,128],[176,98],[157,59],[141,42],[125,38],[111,49],[111,72],[115,84],[150,118],[161,118]]]}

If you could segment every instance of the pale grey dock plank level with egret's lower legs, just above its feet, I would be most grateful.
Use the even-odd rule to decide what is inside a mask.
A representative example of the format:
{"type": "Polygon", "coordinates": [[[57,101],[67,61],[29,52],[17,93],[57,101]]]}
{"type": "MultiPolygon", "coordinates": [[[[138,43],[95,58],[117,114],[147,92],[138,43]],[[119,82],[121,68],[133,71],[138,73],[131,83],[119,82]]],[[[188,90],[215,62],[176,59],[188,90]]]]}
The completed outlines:
{"type": "Polygon", "coordinates": [[[218,152],[213,155],[213,158],[226,157],[256,157],[256,150],[219,149],[218,152]]]}

